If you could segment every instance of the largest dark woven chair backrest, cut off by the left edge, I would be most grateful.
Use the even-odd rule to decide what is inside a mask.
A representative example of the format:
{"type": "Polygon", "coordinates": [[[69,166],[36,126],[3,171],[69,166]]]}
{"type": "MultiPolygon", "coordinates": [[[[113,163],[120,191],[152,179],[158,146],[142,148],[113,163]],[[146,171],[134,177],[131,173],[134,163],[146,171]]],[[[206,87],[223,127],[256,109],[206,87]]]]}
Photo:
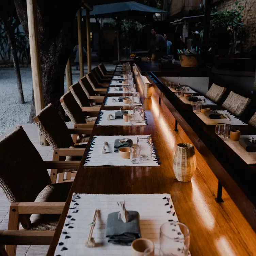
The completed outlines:
{"type": "MultiPolygon", "coordinates": [[[[22,126],[0,140],[0,188],[10,203],[34,202],[50,184],[44,161],[22,126]]],[[[25,228],[27,217],[26,222],[26,218],[20,219],[25,228]]]]}

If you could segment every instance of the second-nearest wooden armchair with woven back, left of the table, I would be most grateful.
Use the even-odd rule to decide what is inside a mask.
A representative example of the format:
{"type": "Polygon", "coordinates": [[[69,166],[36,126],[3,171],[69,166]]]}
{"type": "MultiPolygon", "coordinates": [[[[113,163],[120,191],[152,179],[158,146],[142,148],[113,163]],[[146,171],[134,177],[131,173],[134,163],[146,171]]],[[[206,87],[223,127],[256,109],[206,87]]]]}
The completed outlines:
{"type": "MultiPolygon", "coordinates": [[[[84,124],[83,128],[68,129],[57,110],[55,110],[51,104],[41,110],[39,114],[34,117],[34,121],[39,131],[54,149],[52,160],[81,160],[81,157],[78,156],[83,155],[81,155],[81,148],[83,148],[82,150],[84,152],[86,145],[75,145],[71,134],[79,134],[82,136],[79,141],[76,141],[77,143],[88,142],[90,136],[83,134],[91,134],[93,125],[84,124]]],[[[67,172],[66,179],[64,179],[64,173],[62,172],[59,174],[58,182],[69,181],[71,177],[75,177],[76,171],[77,170],[74,168],[65,169],[65,172],[67,172]]],[[[56,183],[58,172],[56,168],[51,170],[50,177],[52,183],[56,183]]]]}

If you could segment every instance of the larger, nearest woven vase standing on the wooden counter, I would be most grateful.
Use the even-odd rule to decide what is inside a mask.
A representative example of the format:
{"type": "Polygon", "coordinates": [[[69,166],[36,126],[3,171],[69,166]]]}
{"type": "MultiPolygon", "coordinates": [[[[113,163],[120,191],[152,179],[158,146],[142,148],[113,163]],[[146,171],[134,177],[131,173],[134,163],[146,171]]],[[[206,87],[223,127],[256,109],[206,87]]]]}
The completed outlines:
{"type": "Polygon", "coordinates": [[[195,169],[196,158],[194,146],[188,143],[179,143],[173,159],[173,170],[176,179],[183,182],[190,181],[195,169]]]}

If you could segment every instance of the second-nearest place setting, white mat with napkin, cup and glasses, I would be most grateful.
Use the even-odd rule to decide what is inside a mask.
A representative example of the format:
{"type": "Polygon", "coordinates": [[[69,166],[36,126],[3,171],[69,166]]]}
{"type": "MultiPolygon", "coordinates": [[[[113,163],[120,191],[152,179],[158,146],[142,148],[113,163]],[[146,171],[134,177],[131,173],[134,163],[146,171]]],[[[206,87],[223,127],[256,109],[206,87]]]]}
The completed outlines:
{"type": "Polygon", "coordinates": [[[159,166],[150,135],[93,136],[84,166],[159,166]]]}

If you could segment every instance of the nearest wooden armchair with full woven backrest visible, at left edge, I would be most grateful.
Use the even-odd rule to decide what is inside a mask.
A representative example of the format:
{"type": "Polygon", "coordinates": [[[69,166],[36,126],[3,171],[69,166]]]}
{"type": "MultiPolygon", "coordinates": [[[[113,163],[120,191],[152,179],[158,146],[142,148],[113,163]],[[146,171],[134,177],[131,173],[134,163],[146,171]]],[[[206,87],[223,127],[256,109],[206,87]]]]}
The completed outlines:
{"type": "MultiPolygon", "coordinates": [[[[82,155],[84,150],[78,150],[82,155]]],[[[21,126],[1,139],[0,187],[11,203],[8,230],[18,230],[19,223],[29,230],[55,230],[73,182],[52,184],[47,168],[60,173],[79,164],[43,161],[21,126]]],[[[15,255],[16,245],[7,245],[6,251],[15,255]]]]}

